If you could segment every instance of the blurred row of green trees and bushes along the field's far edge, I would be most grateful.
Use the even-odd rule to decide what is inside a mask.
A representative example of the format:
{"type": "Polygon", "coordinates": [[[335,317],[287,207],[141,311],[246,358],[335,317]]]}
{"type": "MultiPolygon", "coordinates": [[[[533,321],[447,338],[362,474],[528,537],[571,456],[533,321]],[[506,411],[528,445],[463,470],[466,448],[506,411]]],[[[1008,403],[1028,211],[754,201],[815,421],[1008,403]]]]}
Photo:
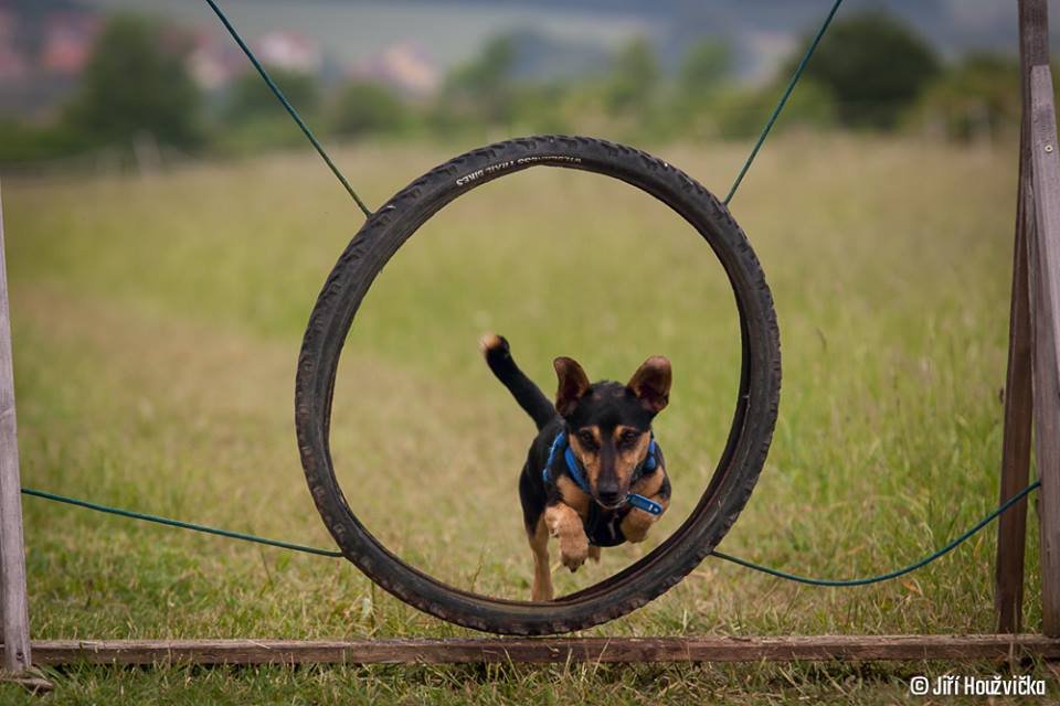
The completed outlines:
{"type": "MultiPolygon", "coordinates": [[[[808,41],[808,38],[807,38],[808,41]]],[[[487,42],[452,71],[433,100],[404,100],[383,84],[358,81],[325,97],[315,76],[269,67],[280,89],[320,137],[412,135],[481,141],[528,132],[600,133],[632,142],[749,139],[759,133],[805,44],[765,87],[732,81],[731,47],[691,44],[664,71],[649,41],[636,38],[604,74],[547,83],[519,75],[517,35],[487,42]]],[[[840,18],[829,30],[776,124],[817,130],[941,126],[947,137],[1010,130],[1018,122],[1015,62],[973,55],[940,65],[932,49],[879,11],[840,18]]],[[[130,143],[149,131],[163,143],[245,154],[297,148],[303,136],[256,72],[230,87],[210,132],[200,97],[181,62],[179,38],[129,15],[116,17],[99,41],[84,86],[52,126],[0,126],[0,161],[70,154],[102,143],[130,143]]]]}

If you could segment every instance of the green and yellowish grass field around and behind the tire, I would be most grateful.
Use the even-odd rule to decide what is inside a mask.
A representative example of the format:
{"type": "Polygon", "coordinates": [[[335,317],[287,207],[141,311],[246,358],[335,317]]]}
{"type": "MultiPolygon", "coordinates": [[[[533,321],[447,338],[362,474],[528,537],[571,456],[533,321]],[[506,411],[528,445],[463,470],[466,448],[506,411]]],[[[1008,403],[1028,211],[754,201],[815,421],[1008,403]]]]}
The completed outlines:
{"type": "MultiPolygon", "coordinates": [[[[743,146],[660,149],[716,192],[743,146]]],[[[339,153],[370,204],[449,150],[339,153]]],[[[997,502],[1015,156],[867,138],[778,140],[732,210],[773,287],[781,417],[727,552],[815,576],[905,564],[997,502]]],[[[23,482],[330,546],[297,457],[305,321],[358,212],[309,156],[141,179],[3,184],[23,482]]],[[[675,502],[709,478],[732,414],[731,295],[665,207],[536,169],[443,211],[369,295],[332,422],[347,496],[435,576],[529,595],[516,478],[532,425],[476,342],[507,335],[551,391],[551,360],[625,379],[674,362],[659,417],[675,502]]],[[[1034,527],[1034,523],[1031,523],[1034,527]]],[[[1031,533],[1034,534],[1034,533],[1031,533]]],[[[25,500],[35,638],[368,638],[466,631],[373,589],[351,565],[25,500]]],[[[1028,625],[1037,625],[1030,537],[1028,625]]],[[[568,591],[649,547],[605,554],[568,591]]],[[[810,589],[714,560],[585,634],[988,632],[990,532],[888,584],[810,589]]],[[[327,667],[53,672],[53,703],[892,703],[945,664],[327,667]]],[[[989,675],[994,665],[962,666],[989,675]]],[[[1052,687],[1050,687],[1052,688],[1052,687]]],[[[0,700],[36,703],[0,687],[0,700]]]]}

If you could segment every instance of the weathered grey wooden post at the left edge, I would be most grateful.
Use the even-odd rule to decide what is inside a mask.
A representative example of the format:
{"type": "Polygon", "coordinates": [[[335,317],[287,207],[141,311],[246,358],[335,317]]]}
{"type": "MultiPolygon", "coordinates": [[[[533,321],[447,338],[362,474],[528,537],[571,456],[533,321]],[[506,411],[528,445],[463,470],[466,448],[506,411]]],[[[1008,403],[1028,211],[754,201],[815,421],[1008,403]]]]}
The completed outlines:
{"type": "Polygon", "coordinates": [[[30,613],[22,543],[22,483],[14,418],[14,368],[11,360],[11,311],[0,203],[0,621],[3,668],[23,674],[30,667],[30,613]]]}

